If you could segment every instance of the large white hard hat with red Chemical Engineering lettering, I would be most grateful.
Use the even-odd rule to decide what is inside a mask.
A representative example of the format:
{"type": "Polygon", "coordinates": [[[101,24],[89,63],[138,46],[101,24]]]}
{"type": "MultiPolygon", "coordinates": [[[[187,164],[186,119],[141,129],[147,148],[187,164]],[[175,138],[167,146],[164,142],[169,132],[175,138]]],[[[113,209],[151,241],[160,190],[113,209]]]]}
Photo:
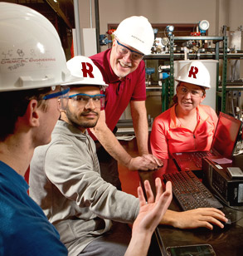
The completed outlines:
{"type": "Polygon", "coordinates": [[[0,2],[0,91],[56,86],[70,76],[55,27],[39,12],[0,2]]]}

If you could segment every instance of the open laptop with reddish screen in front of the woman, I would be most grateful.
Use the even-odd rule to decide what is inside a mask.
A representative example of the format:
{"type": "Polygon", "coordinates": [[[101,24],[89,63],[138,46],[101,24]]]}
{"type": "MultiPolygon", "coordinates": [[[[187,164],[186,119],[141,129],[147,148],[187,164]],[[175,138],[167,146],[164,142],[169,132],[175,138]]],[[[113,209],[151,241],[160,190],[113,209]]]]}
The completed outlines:
{"type": "Polygon", "coordinates": [[[240,120],[220,112],[211,150],[173,153],[180,170],[202,170],[202,158],[211,155],[232,155],[241,131],[241,124],[240,120]]]}

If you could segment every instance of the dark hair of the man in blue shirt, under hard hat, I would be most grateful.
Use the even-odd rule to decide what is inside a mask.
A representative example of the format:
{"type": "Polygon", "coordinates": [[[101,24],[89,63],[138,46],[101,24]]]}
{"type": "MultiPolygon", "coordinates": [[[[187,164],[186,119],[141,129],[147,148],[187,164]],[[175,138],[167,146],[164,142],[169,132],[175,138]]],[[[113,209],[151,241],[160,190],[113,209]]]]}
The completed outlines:
{"type": "Polygon", "coordinates": [[[47,104],[42,97],[49,91],[51,91],[50,87],[0,92],[0,141],[6,140],[8,135],[14,133],[17,118],[25,115],[31,100],[38,101],[38,107],[46,111],[47,104]]]}

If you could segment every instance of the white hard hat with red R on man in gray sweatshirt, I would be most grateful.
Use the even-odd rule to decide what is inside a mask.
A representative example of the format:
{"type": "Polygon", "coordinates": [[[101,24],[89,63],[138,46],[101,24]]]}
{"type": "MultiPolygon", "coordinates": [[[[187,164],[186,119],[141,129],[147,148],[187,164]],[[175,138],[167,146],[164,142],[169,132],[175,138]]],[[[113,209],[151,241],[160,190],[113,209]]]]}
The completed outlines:
{"type": "Polygon", "coordinates": [[[79,77],[79,81],[67,83],[67,86],[73,85],[95,85],[103,88],[105,84],[100,69],[95,66],[94,62],[89,57],[75,56],[66,62],[72,76],[79,77]]]}

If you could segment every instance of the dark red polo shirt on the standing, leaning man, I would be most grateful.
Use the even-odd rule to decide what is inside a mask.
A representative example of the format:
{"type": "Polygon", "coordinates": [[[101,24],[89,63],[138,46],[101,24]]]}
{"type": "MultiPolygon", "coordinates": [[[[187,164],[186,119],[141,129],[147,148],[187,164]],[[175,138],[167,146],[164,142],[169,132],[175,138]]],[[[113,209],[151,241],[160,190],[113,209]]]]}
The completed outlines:
{"type": "Polygon", "coordinates": [[[129,101],[146,100],[145,64],[141,61],[135,71],[119,80],[109,63],[110,51],[100,52],[90,59],[99,67],[105,83],[109,84],[104,93],[104,111],[107,126],[114,130],[129,101]]]}

